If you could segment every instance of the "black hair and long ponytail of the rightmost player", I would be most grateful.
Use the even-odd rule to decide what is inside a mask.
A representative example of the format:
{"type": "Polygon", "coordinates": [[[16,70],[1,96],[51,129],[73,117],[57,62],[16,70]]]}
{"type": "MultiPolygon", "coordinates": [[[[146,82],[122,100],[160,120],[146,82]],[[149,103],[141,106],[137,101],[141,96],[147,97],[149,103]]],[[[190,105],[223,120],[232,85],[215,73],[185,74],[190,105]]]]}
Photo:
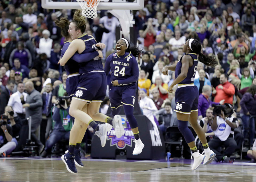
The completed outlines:
{"type": "Polygon", "coordinates": [[[190,42],[189,46],[190,46],[191,52],[199,54],[198,60],[200,62],[202,62],[206,66],[212,66],[212,67],[214,67],[218,64],[218,61],[214,54],[211,54],[208,56],[208,55],[201,53],[202,46],[201,46],[201,43],[197,39],[194,39],[193,41],[189,40],[189,42],[190,42]]]}

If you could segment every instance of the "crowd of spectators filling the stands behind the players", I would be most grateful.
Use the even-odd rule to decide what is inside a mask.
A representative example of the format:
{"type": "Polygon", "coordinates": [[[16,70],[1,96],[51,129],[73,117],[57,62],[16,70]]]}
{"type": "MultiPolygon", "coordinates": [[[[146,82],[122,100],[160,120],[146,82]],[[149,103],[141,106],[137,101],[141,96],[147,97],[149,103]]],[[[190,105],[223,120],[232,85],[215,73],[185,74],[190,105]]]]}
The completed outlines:
{"type": "MultiPolygon", "coordinates": [[[[214,68],[198,62],[195,73],[195,85],[200,93],[198,122],[203,121],[204,127],[207,120],[211,120],[207,111],[213,103],[231,104],[240,116],[243,140],[249,149],[252,147],[256,115],[253,89],[256,85],[255,8],[254,1],[250,0],[145,0],[142,10],[132,12],[137,43],[143,49],[138,59],[140,106],[151,121],[158,121],[156,123],[163,133],[166,128],[177,125],[177,118],[174,94],[167,91],[175,75],[170,71],[164,76],[162,69],[177,63],[184,54],[183,44],[187,39],[195,38],[202,43],[203,54],[214,54],[219,61],[214,68]],[[146,106],[149,98],[153,102],[146,106]]],[[[19,118],[20,123],[27,116],[34,116],[31,139],[40,151],[45,151],[44,155],[49,154],[49,146],[53,145],[53,140],[50,140],[44,148],[45,139],[53,128],[69,132],[69,127],[58,128],[58,124],[53,124],[53,116],[61,118],[63,123],[73,121],[70,116],[64,119],[64,116],[53,115],[52,109],[58,106],[56,112],[60,109],[66,111],[69,105],[69,101],[62,106],[59,104],[59,97],[65,95],[67,75],[57,64],[64,40],[54,21],[61,17],[71,19],[73,13],[74,10],[43,9],[39,0],[4,1],[0,4],[0,113],[8,115],[5,111],[10,107],[6,106],[11,106],[14,118],[19,118]],[[35,138],[40,123],[47,123],[41,141],[35,138]]],[[[88,19],[85,33],[107,45],[105,59],[113,51],[115,27],[120,25],[118,19],[107,11],[98,13],[97,18],[88,19]]],[[[104,102],[104,112],[108,104],[104,102]]],[[[12,116],[8,117],[11,120],[12,116]]],[[[11,131],[9,134],[15,137],[11,131]]],[[[0,140],[0,147],[10,142],[8,137],[0,140]]]]}

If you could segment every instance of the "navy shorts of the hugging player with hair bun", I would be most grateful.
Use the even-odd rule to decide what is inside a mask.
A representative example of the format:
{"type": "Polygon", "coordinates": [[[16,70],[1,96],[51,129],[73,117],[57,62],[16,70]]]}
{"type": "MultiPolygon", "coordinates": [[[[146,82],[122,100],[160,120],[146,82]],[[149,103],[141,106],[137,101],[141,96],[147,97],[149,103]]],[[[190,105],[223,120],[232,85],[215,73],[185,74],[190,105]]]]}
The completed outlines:
{"type": "Polygon", "coordinates": [[[105,72],[91,72],[80,76],[73,99],[85,102],[102,102],[107,91],[107,75],[105,72]]]}

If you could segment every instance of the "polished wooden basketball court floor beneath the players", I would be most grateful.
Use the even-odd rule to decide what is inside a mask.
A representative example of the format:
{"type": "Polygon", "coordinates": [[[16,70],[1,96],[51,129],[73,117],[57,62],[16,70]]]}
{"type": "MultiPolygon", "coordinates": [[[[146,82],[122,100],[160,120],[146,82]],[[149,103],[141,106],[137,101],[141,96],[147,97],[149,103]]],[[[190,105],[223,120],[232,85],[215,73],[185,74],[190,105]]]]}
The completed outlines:
{"type": "Polygon", "coordinates": [[[256,163],[214,163],[191,171],[190,160],[83,160],[77,174],[61,159],[0,158],[0,181],[256,181],[256,163]]]}

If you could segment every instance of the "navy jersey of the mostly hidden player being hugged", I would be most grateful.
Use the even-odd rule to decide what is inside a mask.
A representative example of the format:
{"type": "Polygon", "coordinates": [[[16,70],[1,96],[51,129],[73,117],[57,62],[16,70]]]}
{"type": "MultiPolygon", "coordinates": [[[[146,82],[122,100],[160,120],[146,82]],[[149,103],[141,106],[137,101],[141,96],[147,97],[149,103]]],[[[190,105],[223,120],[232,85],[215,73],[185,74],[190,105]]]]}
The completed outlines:
{"type": "MultiPolygon", "coordinates": [[[[64,42],[64,45],[61,50],[61,57],[63,57],[69,45],[70,45],[70,42],[64,42]]],[[[65,70],[67,72],[67,75],[78,73],[79,72],[78,63],[75,62],[73,59],[69,59],[68,62],[65,64],[65,70]]]]}

